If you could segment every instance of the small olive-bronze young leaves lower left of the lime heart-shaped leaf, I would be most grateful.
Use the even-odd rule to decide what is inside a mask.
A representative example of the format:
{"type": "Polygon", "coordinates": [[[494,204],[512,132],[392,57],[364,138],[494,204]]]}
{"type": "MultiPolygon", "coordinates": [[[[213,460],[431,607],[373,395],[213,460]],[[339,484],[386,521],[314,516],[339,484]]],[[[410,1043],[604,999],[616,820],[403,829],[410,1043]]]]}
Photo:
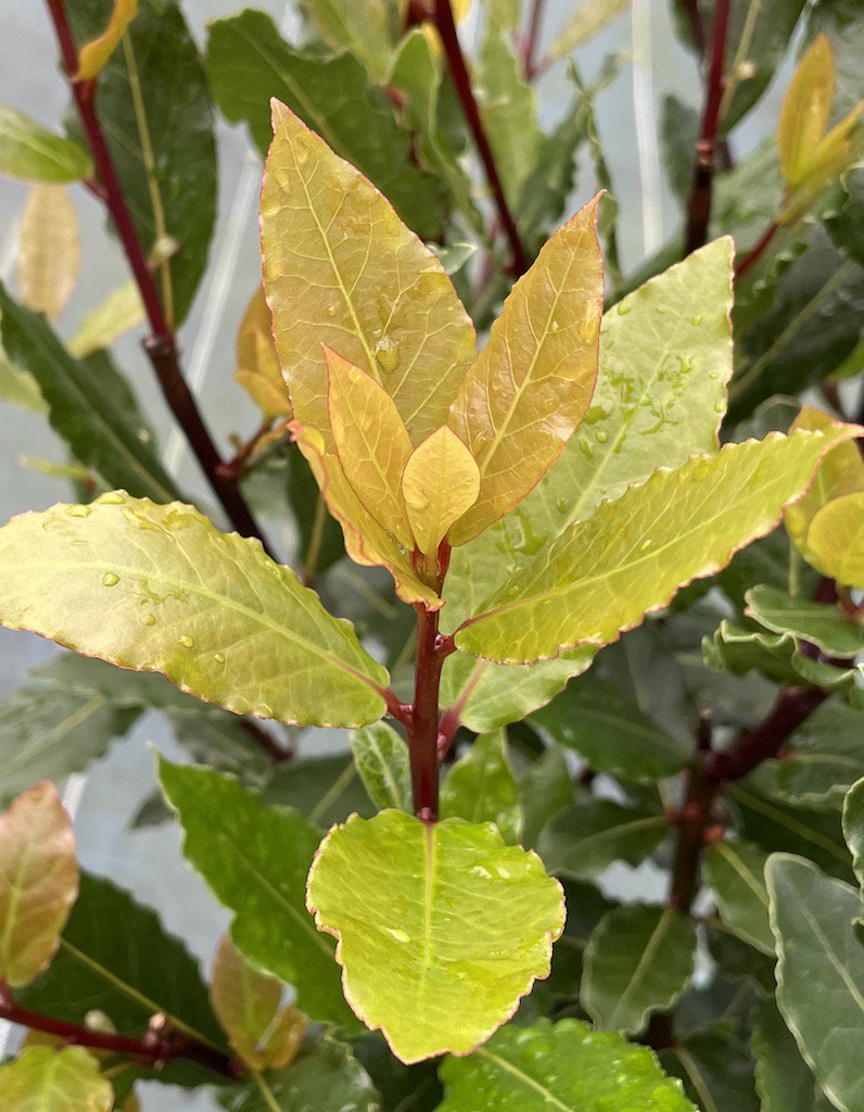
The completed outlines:
{"type": "Polygon", "coordinates": [[[279,1070],[297,1056],[306,1019],[282,1006],[281,981],[250,965],[224,935],[213,957],[210,1003],[231,1046],[252,1070],[279,1070]]]}

